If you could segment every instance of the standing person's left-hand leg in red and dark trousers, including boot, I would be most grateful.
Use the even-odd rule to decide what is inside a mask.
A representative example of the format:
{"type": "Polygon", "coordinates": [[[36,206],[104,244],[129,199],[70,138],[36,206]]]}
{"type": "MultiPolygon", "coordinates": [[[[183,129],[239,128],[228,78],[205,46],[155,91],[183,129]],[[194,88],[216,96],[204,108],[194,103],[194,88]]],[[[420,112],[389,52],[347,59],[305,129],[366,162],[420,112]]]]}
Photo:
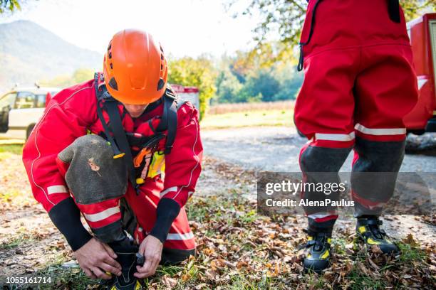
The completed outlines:
{"type": "MultiPolygon", "coordinates": [[[[338,183],[338,171],[353,147],[353,85],[358,55],[357,49],[330,50],[305,60],[305,77],[294,120],[309,139],[299,160],[306,183],[317,183],[320,178],[323,182],[338,183]]],[[[302,198],[324,200],[326,195],[306,190],[302,198]]],[[[310,256],[304,260],[304,266],[321,271],[328,267],[331,232],[338,215],[335,208],[305,210],[310,256]]]]}

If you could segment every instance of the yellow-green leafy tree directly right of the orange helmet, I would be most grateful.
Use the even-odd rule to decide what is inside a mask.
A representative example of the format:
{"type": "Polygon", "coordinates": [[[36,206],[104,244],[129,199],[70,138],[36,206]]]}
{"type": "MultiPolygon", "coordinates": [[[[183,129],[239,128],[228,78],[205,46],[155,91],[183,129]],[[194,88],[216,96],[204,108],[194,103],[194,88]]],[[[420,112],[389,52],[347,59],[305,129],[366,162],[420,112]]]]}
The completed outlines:
{"type": "Polygon", "coordinates": [[[214,96],[217,88],[215,80],[217,70],[212,60],[207,56],[199,58],[178,58],[168,64],[168,82],[178,85],[194,86],[199,89],[199,111],[204,116],[209,99],[214,96]]]}

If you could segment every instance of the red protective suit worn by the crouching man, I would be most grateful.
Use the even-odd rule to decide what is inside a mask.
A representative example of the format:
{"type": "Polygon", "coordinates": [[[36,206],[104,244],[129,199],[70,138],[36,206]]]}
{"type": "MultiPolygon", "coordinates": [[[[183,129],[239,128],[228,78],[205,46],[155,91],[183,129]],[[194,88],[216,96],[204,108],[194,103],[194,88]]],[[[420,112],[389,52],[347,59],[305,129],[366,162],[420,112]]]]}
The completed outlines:
{"type": "MultiPolygon", "coordinates": [[[[100,85],[103,85],[100,83],[100,85]]],[[[85,134],[100,134],[102,124],[97,116],[97,98],[94,81],[69,87],[51,99],[41,120],[36,124],[23,151],[23,161],[32,192],[36,200],[50,213],[61,201],[70,198],[63,168],[56,157],[76,138],[85,134]]],[[[122,105],[118,106],[123,116],[126,132],[147,136],[152,133],[147,124],[149,119],[156,120],[162,115],[162,104],[150,106],[139,118],[133,119],[126,114],[122,105]]],[[[104,112],[105,119],[108,115],[104,112]]],[[[160,144],[160,149],[165,141],[160,144]]],[[[140,186],[139,195],[132,186],[128,187],[125,198],[137,217],[138,227],[135,235],[139,242],[150,233],[155,225],[157,204],[162,198],[175,200],[181,210],[167,235],[164,247],[171,249],[194,249],[194,235],[188,225],[184,205],[194,193],[201,171],[202,141],[199,136],[198,113],[190,102],[180,105],[177,111],[177,133],[170,154],[165,156],[163,164],[153,168],[154,176],[145,178],[140,186]]],[[[91,228],[98,229],[120,220],[119,198],[105,200],[93,205],[78,205],[91,228]]],[[[68,215],[69,213],[63,213],[68,215]]],[[[68,239],[67,239],[68,240],[68,239]]]]}

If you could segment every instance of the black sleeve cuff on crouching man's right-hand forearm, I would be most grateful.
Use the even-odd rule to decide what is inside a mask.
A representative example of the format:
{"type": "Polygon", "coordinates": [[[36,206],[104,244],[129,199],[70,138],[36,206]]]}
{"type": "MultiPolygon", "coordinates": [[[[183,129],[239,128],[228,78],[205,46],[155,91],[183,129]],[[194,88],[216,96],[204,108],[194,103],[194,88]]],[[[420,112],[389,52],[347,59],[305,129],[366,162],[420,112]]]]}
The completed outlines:
{"type": "Polygon", "coordinates": [[[150,235],[157,237],[162,244],[167,240],[168,232],[172,222],[180,213],[180,205],[170,198],[162,198],[156,208],[156,223],[155,227],[150,232],[150,235]]]}

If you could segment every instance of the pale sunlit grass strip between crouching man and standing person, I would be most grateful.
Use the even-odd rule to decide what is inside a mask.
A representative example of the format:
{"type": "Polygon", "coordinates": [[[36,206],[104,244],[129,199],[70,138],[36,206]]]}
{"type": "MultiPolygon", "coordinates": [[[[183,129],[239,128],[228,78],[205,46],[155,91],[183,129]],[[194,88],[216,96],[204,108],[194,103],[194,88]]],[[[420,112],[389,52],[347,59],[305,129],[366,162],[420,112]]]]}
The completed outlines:
{"type": "Polygon", "coordinates": [[[249,112],[207,114],[202,119],[202,129],[224,129],[230,127],[292,126],[294,111],[273,109],[249,112]]]}

